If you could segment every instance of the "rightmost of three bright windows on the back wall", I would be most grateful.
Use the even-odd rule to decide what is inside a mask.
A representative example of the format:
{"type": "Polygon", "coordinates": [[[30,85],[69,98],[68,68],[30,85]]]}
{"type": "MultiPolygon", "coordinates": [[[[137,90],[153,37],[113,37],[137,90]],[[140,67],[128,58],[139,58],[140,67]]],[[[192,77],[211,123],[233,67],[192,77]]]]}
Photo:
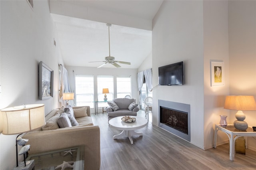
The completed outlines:
{"type": "Polygon", "coordinates": [[[131,77],[116,77],[117,98],[131,96],[131,77]]]}

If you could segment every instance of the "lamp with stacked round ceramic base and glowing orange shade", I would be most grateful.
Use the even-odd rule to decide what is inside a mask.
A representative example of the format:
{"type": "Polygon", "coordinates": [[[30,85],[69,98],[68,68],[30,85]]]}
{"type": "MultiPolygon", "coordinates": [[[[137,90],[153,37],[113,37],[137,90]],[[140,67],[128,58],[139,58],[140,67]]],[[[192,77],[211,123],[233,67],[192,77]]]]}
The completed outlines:
{"type": "Polygon", "coordinates": [[[226,96],[224,109],[236,110],[236,121],[234,127],[239,130],[246,130],[248,124],[243,111],[256,111],[256,103],[253,96],[226,96]]]}

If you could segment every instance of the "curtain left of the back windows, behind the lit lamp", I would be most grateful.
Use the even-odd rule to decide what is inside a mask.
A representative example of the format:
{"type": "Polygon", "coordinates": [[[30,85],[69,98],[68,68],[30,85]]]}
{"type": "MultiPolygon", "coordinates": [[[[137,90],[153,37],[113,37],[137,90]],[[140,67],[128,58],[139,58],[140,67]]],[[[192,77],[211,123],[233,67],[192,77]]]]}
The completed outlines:
{"type": "MultiPolygon", "coordinates": [[[[59,107],[65,107],[65,101],[63,101],[62,94],[63,93],[71,93],[69,82],[68,82],[68,71],[65,69],[63,65],[59,66],[60,70],[60,93],[59,93],[59,107]]],[[[68,102],[70,105],[73,105],[73,101],[68,102]]]]}

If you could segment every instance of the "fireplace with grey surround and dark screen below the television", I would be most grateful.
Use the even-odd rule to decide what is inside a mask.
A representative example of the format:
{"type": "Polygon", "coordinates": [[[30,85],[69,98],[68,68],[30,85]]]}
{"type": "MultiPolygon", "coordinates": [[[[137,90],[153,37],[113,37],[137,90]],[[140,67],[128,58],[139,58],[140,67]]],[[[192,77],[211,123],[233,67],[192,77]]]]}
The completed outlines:
{"type": "Polygon", "coordinates": [[[190,105],[158,100],[159,127],[190,141],[190,105]]]}

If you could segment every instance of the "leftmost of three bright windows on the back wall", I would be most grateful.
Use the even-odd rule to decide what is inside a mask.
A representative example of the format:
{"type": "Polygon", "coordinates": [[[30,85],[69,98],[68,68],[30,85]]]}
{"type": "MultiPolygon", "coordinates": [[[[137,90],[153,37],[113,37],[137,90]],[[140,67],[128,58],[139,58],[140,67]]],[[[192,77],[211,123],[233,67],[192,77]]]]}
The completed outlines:
{"type": "Polygon", "coordinates": [[[76,75],[76,105],[94,108],[93,75],[76,75]]]}

